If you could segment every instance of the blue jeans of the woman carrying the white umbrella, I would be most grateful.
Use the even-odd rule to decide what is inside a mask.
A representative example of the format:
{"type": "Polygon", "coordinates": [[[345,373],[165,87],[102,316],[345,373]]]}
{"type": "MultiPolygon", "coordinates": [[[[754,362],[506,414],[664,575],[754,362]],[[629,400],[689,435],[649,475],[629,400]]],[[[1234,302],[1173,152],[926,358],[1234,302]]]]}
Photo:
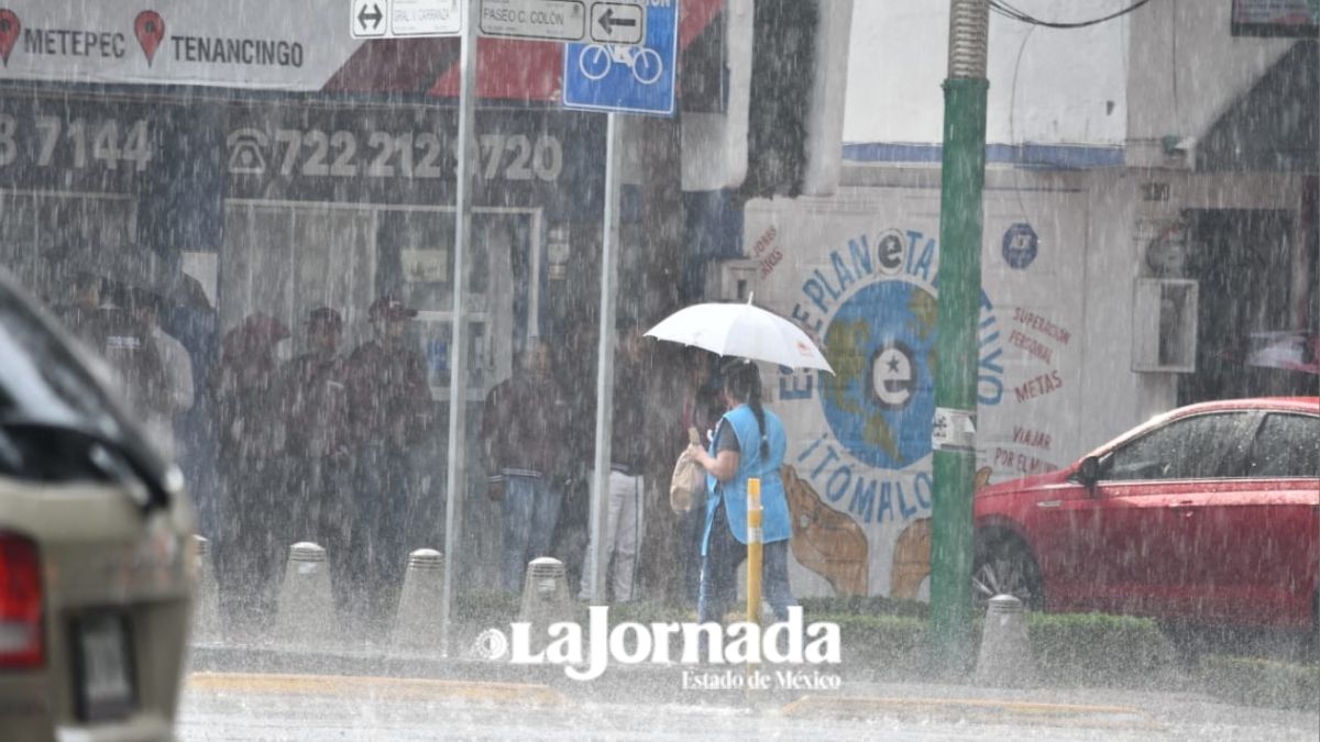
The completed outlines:
{"type": "MultiPolygon", "coordinates": [[[[730,603],[738,594],[738,566],[747,558],[747,547],[729,529],[723,503],[710,527],[710,544],[701,560],[701,591],[697,597],[697,621],[723,623],[730,603]]],[[[788,621],[788,606],[797,605],[788,586],[788,541],[766,544],[760,562],[762,594],[775,609],[776,621],[788,621]]]]}

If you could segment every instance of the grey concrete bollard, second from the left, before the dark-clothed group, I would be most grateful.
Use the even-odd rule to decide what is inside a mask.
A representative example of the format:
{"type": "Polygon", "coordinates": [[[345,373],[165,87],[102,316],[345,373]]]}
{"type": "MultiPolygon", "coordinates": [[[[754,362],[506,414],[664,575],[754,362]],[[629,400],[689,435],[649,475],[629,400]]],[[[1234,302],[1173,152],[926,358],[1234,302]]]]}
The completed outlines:
{"type": "Polygon", "coordinates": [[[323,647],[339,638],[326,551],[310,541],[298,541],[289,547],[273,639],[289,647],[323,647]]]}

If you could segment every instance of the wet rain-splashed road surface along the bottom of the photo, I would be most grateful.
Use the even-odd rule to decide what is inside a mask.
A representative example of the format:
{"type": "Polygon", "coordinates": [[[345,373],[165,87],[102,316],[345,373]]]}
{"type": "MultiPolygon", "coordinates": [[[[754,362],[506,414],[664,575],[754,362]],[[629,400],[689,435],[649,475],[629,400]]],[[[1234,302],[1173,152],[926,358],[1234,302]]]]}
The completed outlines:
{"type": "MultiPolygon", "coordinates": [[[[269,677],[269,676],[267,676],[269,677]]],[[[455,693],[453,685],[355,680],[302,685],[235,679],[189,685],[180,738],[210,741],[322,739],[1305,739],[1320,738],[1320,714],[1245,709],[1200,697],[1097,698],[1059,706],[1003,698],[956,702],[886,696],[850,708],[731,708],[715,705],[594,704],[549,689],[455,693]],[[1179,702],[1181,701],[1181,702],[1179,702]],[[1065,713],[1055,713],[1064,709],[1065,713]],[[1045,713],[1041,713],[1045,712],[1045,713]],[[843,714],[843,716],[841,716],[843,714]]],[[[420,681],[426,683],[426,681],[420,681]]],[[[908,687],[911,691],[911,687],[908,687]]],[[[866,697],[866,691],[857,697],[866,697]]],[[[874,689],[886,691],[883,688],[874,689]]],[[[890,688],[888,691],[894,691],[890,688]]],[[[923,688],[924,697],[941,693],[923,688]]]]}

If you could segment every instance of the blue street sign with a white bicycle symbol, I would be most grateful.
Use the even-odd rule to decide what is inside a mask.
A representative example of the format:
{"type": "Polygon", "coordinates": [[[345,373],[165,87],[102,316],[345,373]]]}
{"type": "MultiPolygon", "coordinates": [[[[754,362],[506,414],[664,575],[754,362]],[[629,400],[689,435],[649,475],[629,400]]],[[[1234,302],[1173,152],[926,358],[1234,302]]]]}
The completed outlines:
{"type": "MultiPolygon", "coordinates": [[[[591,9],[593,33],[624,37],[634,26],[622,7],[642,11],[644,30],[640,46],[616,44],[568,44],[564,48],[564,106],[589,111],[623,111],[672,116],[675,112],[676,62],[678,59],[678,0],[597,3],[591,9]],[[610,13],[610,21],[601,20],[610,13]],[[599,13],[599,15],[598,15],[599,13]]],[[[634,11],[632,13],[636,13],[634,11]]],[[[597,37],[593,36],[593,40],[597,37]]]]}

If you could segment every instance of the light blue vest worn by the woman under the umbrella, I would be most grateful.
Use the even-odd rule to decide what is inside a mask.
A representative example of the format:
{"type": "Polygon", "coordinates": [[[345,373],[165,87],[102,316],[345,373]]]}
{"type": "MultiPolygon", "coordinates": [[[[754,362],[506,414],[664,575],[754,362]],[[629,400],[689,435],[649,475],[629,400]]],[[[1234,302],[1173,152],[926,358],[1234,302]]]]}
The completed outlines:
{"type": "MultiPolygon", "coordinates": [[[[701,539],[701,556],[706,556],[710,544],[710,527],[715,522],[719,503],[725,503],[729,516],[729,529],[738,541],[747,543],[747,479],[760,477],[760,527],[763,543],[784,541],[792,535],[792,522],[788,519],[788,499],[784,496],[784,479],[779,467],[784,462],[788,437],[779,416],[764,409],[766,438],[770,442],[770,458],[760,455],[760,429],[756,413],[746,404],[730,409],[721,419],[718,436],[733,433],[738,436],[738,471],[733,479],[719,482],[706,474],[706,490],[711,496],[706,500],[706,528],[701,539]]],[[[710,455],[715,455],[717,441],[710,442],[710,455]]]]}

